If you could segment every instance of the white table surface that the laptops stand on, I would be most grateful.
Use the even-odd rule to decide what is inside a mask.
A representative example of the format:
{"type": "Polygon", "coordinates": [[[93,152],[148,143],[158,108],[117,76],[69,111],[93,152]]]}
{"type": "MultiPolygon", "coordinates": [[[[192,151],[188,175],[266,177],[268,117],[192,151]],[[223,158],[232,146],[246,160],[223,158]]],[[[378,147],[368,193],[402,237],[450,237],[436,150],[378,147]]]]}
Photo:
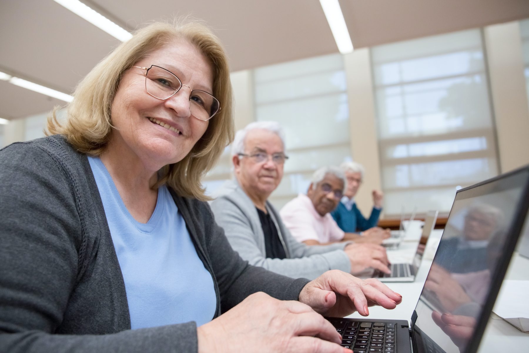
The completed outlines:
{"type": "MultiPolygon", "coordinates": [[[[393,291],[403,296],[402,303],[397,305],[393,310],[387,310],[380,306],[369,308],[369,319],[387,319],[387,320],[407,320],[410,322],[412,313],[415,310],[418,298],[432,265],[433,255],[439,245],[442,230],[434,230],[428,239],[423,261],[414,282],[387,282],[386,285],[393,291]]],[[[396,250],[387,250],[388,258],[391,263],[411,263],[415,250],[417,248],[418,237],[413,234],[404,239],[400,247],[396,250]]],[[[515,254],[509,265],[506,279],[524,279],[529,280],[529,259],[515,254]]],[[[527,295],[529,300],[529,293],[527,295]]],[[[358,313],[353,313],[349,318],[363,318],[358,313]]],[[[481,341],[478,352],[529,352],[529,333],[523,333],[513,325],[502,320],[496,314],[492,313],[489,323],[485,330],[484,338],[481,341]]]]}

